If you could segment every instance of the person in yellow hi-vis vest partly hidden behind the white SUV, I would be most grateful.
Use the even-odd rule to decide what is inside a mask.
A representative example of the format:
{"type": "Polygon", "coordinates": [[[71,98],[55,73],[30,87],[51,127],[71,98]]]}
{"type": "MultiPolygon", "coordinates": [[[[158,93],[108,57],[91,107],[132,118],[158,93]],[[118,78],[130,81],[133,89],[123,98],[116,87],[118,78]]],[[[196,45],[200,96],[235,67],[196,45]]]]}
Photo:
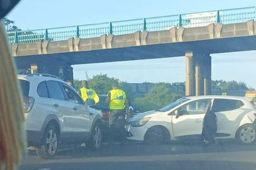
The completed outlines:
{"type": "Polygon", "coordinates": [[[80,88],[79,94],[84,101],[86,99],[93,99],[95,103],[99,102],[99,96],[93,89],[89,88],[88,82],[86,80],[82,81],[82,88],[80,88]]]}

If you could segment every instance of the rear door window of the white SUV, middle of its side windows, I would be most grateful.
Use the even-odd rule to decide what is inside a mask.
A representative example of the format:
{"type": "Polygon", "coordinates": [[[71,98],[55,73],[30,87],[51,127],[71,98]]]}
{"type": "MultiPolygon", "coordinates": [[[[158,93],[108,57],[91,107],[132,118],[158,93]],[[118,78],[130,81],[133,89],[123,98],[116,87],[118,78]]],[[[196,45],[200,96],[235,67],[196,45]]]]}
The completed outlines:
{"type": "Polygon", "coordinates": [[[59,85],[58,82],[50,80],[50,81],[47,81],[46,84],[47,84],[50,98],[65,100],[63,91],[61,90],[61,86],[59,85]]]}

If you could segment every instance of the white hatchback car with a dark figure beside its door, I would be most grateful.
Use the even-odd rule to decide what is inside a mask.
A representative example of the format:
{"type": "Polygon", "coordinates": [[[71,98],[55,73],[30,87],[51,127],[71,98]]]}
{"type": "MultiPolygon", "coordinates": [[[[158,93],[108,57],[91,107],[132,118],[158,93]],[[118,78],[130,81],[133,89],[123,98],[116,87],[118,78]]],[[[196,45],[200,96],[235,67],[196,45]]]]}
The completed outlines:
{"type": "Polygon", "coordinates": [[[239,96],[188,96],[157,111],[129,119],[128,139],[162,143],[177,139],[201,139],[202,124],[208,107],[218,118],[217,137],[236,138],[249,144],[256,139],[256,108],[250,99],[239,96]]]}

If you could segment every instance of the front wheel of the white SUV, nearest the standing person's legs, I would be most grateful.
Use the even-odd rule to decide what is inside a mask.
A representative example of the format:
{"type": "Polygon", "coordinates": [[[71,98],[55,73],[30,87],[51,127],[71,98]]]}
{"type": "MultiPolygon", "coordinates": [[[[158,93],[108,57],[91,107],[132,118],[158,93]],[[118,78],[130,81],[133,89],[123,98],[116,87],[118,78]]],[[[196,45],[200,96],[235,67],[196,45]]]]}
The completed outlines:
{"type": "Polygon", "coordinates": [[[93,126],[92,134],[89,141],[85,142],[85,145],[90,150],[97,150],[102,144],[102,123],[96,122],[93,126]]]}

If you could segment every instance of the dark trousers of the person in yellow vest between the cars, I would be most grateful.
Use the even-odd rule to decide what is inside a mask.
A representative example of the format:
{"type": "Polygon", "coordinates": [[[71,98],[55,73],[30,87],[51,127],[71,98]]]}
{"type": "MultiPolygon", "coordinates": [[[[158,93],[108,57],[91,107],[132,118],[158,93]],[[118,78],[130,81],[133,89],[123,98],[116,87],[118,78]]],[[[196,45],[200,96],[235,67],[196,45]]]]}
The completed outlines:
{"type": "Polygon", "coordinates": [[[112,142],[115,138],[119,138],[120,142],[125,141],[125,122],[125,111],[123,109],[111,110],[109,115],[110,142],[112,142]]]}

